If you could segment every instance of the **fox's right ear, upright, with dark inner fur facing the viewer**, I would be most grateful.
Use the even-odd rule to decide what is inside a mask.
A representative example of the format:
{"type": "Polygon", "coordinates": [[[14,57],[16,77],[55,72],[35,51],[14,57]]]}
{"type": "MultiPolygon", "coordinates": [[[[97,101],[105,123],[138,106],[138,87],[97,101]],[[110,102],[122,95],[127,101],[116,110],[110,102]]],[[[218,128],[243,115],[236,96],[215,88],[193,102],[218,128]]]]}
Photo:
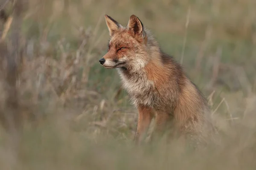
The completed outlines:
{"type": "Polygon", "coordinates": [[[128,22],[128,28],[134,33],[134,35],[144,36],[143,24],[138,17],[131,15],[128,22]]]}

